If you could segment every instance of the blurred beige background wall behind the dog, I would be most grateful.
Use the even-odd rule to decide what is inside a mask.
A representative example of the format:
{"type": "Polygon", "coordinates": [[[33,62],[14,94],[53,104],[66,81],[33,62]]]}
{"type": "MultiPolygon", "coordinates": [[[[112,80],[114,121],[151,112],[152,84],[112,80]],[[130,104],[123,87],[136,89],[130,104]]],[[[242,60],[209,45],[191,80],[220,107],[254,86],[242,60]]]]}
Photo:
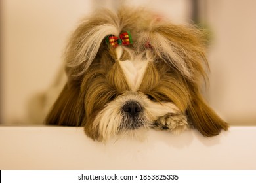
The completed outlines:
{"type": "MultiPolygon", "coordinates": [[[[1,1],[1,121],[39,124],[42,94],[61,75],[62,51],[79,20],[114,0],[1,1]],[[41,98],[40,98],[41,97],[41,98]],[[35,100],[37,99],[37,100],[35,100]],[[39,99],[39,101],[38,101],[39,99]]],[[[193,3],[198,20],[212,32],[207,101],[232,125],[256,125],[256,1],[133,0],[175,22],[188,22],[193,3]]],[[[56,88],[56,90],[59,90],[56,88]]],[[[51,96],[54,97],[54,96],[51,96]]]]}

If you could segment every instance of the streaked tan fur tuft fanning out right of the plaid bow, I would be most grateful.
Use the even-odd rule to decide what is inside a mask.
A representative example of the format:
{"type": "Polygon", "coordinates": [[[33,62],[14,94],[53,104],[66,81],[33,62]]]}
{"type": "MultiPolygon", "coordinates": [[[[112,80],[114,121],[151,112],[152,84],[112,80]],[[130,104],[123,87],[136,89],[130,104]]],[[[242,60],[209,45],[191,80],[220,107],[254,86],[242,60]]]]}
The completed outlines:
{"type": "Polygon", "coordinates": [[[148,41],[157,58],[192,82],[206,76],[205,31],[194,25],[176,25],[164,20],[153,20],[147,31],[139,33],[138,42],[142,45],[148,41]]]}

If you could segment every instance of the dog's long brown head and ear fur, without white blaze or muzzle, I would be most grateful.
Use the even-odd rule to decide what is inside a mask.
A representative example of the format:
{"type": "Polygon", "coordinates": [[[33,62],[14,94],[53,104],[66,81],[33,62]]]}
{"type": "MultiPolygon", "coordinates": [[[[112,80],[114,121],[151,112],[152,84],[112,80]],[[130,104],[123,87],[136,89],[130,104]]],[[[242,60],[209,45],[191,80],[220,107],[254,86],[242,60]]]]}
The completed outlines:
{"type": "Polygon", "coordinates": [[[106,29],[106,35],[115,34],[112,29],[118,34],[131,31],[134,43],[124,48],[121,60],[138,55],[152,59],[138,92],[159,103],[173,102],[204,136],[218,135],[221,129],[228,129],[228,124],[205,103],[200,93],[202,80],[207,81],[208,68],[203,31],[127,7],[117,13],[96,12],[74,31],[65,53],[68,83],[48,114],[47,124],[82,125],[89,137],[98,139],[98,129],[93,125],[98,112],[131,90],[114,49],[106,44],[106,35],[100,28],[106,29]]]}

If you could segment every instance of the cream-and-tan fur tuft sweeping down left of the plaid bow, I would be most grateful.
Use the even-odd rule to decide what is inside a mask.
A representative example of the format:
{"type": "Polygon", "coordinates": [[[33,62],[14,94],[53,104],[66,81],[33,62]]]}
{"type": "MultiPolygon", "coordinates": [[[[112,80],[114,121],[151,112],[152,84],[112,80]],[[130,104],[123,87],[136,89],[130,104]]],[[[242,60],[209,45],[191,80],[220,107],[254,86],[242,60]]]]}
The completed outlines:
{"type": "Polygon", "coordinates": [[[96,13],[81,21],[69,39],[64,53],[68,82],[81,80],[93,61],[98,61],[95,58],[100,48],[108,49],[106,36],[119,34],[115,14],[108,10],[96,13]]]}

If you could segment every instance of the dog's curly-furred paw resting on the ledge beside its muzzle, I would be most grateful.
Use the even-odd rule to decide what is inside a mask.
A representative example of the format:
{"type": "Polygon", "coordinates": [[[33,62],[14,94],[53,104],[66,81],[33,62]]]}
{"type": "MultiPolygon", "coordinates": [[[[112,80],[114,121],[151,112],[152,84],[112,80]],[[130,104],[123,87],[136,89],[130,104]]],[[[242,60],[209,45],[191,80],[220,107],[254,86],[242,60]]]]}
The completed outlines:
{"type": "Polygon", "coordinates": [[[179,134],[188,129],[187,118],[184,114],[167,114],[161,116],[152,124],[155,129],[171,131],[174,134],[179,134]]]}

